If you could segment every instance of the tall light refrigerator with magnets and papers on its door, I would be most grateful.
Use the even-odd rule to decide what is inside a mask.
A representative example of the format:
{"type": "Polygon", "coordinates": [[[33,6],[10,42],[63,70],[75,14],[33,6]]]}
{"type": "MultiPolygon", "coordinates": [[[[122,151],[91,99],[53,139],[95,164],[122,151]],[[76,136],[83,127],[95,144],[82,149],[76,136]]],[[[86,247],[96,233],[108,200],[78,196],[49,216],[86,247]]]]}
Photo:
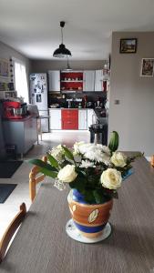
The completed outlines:
{"type": "Polygon", "coordinates": [[[48,132],[47,77],[46,73],[30,75],[30,102],[38,108],[42,132],[48,132]]]}

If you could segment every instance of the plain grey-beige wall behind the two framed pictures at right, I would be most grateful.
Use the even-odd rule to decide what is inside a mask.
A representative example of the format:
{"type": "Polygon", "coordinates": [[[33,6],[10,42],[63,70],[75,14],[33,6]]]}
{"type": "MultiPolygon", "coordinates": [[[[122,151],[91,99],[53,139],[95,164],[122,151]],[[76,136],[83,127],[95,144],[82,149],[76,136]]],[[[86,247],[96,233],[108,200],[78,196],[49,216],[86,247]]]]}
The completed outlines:
{"type": "Polygon", "coordinates": [[[120,150],[149,157],[154,153],[154,76],[140,76],[146,57],[154,58],[154,32],[113,33],[108,134],[118,131],[120,150]],[[138,38],[137,53],[120,54],[120,38],[138,38]]]}

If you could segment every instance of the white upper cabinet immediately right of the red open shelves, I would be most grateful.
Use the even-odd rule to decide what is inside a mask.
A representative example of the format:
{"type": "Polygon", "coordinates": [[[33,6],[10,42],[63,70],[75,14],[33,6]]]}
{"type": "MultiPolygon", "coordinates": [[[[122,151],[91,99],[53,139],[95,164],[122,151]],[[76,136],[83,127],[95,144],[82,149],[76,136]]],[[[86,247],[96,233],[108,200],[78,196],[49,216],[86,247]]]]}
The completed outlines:
{"type": "Polygon", "coordinates": [[[83,75],[83,91],[94,92],[95,70],[85,70],[83,75]]]}

